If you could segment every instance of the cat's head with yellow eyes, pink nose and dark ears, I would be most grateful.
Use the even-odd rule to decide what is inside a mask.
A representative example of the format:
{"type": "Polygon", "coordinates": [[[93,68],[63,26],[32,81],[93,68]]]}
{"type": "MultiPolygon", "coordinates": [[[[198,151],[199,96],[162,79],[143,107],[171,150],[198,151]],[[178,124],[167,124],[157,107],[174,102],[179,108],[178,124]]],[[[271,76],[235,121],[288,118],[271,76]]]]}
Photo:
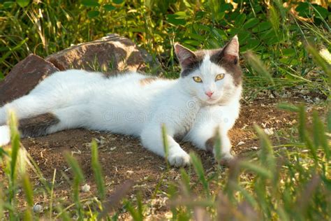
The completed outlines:
{"type": "Polygon", "coordinates": [[[186,92],[203,104],[227,104],[242,90],[239,43],[233,37],[223,48],[193,52],[175,43],[182,67],[180,81],[186,92]]]}

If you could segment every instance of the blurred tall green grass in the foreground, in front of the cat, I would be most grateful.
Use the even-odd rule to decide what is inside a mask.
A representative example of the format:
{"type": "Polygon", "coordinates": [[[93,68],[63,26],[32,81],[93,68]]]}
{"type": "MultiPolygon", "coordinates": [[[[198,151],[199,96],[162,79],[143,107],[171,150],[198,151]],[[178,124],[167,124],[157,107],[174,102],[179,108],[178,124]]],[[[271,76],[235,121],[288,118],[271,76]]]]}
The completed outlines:
{"type": "MultiPolygon", "coordinates": [[[[270,139],[262,129],[256,126],[260,138],[260,150],[256,157],[234,159],[230,167],[224,170],[216,165],[213,173],[206,175],[198,155],[191,153],[191,163],[196,175],[186,173],[181,169],[181,183],[169,185],[170,208],[175,220],[190,220],[203,218],[217,220],[330,220],[331,219],[331,174],[330,174],[330,141],[326,132],[325,122],[313,114],[311,128],[307,129],[307,117],[303,106],[281,104],[284,110],[290,110],[299,116],[297,141],[284,145],[284,148],[274,148],[270,139]],[[193,176],[193,177],[191,177],[193,176]],[[195,177],[195,178],[194,178],[195,177]],[[190,183],[197,179],[200,184],[190,183]],[[213,184],[211,188],[210,185],[213,184]],[[201,188],[201,189],[200,189],[201,188]],[[196,192],[196,190],[203,190],[196,192]]],[[[52,198],[45,207],[52,211],[52,204],[57,213],[33,212],[34,185],[29,180],[29,173],[38,171],[36,164],[31,163],[29,154],[20,148],[17,123],[14,115],[10,117],[11,148],[1,148],[0,166],[4,169],[6,180],[1,185],[0,218],[9,220],[70,220],[78,218],[114,219],[117,217],[116,204],[122,204],[131,214],[133,220],[143,220],[145,217],[144,201],[137,195],[134,206],[125,197],[132,183],[124,183],[115,190],[109,198],[105,194],[105,184],[101,166],[98,162],[98,151],[95,142],[91,145],[92,169],[94,171],[97,198],[81,199],[80,187],[84,183],[84,174],[77,160],[66,155],[68,165],[72,169],[72,204],[64,204],[52,198]],[[22,188],[26,201],[17,213],[18,190],[22,188]],[[110,199],[110,201],[108,201],[110,199]],[[85,208],[82,203],[92,201],[94,206],[85,208]],[[58,204],[60,203],[60,204],[58,204]]],[[[329,131],[330,133],[330,131],[329,131]]],[[[38,173],[38,172],[37,172],[38,173]]],[[[54,175],[55,176],[55,175],[54,175]]],[[[41,178],[43,180],[43,178],[41,178]]],[[[43,189],[48,197],[52,197],[54,185],[43,182],[43,189]]],[[[54,183],[54,178],[53,178],[54,183]]]]}

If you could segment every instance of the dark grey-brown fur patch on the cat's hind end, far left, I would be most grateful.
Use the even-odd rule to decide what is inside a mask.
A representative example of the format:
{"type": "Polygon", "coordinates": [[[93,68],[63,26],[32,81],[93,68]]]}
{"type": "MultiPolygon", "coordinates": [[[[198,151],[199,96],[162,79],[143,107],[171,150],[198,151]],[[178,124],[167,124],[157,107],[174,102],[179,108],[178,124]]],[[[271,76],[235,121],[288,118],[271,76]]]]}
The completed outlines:
{"type": "Polygon", "coordinates": [[[43,113],[20,120],[18,129],[22,136],[43,136],[47,134],[47,128],[59,122],[60,120],[54,114],[43,113]]]}

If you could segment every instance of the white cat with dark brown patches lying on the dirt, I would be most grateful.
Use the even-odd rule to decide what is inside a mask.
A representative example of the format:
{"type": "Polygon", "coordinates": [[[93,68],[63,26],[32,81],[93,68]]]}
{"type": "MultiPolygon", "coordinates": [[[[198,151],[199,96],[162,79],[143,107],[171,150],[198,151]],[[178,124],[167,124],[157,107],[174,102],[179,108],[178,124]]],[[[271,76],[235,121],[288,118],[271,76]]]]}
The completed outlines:
{"type": "Polygon", "coordinates": [[[6,119],[13,110],[22,137],[73,128],[110,131],[138,136],[145,148],[165,157],[164,124],[170,165],[190,163],[175,138],[215,154],[216,133],[223,159],[231,159],[228,130],[239,115],[242,94],[237,36],[216,50],[193,52],[179,43],[174,49],[182,69],[176,80],[142,73],[109,78],[83,70],[53,73],[0,108],[0,145],[10,142],[6,119]]]}

